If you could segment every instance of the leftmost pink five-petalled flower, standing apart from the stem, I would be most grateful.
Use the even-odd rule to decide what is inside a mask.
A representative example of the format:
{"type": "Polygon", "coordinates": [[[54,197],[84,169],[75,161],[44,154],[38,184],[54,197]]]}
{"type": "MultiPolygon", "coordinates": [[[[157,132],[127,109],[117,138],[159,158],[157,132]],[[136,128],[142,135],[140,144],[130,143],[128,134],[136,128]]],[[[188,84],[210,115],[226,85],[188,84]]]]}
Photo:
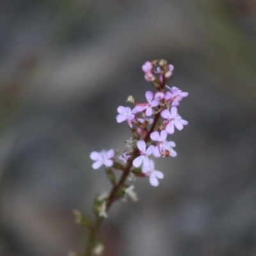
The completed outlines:
{"type": "Polygon", "coordinates": [[[90,158],[93,161],[96,161],[93,163],[92,168],[93,169],[99,169],[102,164],[104,164],[107,167],[110,167],[113,165],[113,161],[110,160],[113,156],[115,156],[115,151],[113,149],[109,151],[102,150],[101,152],[95,152],[93,151],[90,154],[90,158]]]}

